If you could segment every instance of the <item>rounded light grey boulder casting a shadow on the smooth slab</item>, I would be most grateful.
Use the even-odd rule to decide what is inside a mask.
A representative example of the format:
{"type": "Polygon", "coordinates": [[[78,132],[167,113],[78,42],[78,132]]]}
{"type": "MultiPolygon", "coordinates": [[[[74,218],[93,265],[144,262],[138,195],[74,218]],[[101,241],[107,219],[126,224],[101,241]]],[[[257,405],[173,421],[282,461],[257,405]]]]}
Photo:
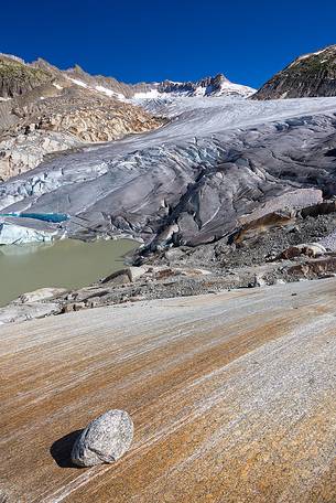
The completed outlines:
{"type": "Polygon", "coordinates": [[[133,439],[133,421],[124,410],[108,410],[79,435],[72,451],[78,467],[112,463],[128,451],[133,439]]]}

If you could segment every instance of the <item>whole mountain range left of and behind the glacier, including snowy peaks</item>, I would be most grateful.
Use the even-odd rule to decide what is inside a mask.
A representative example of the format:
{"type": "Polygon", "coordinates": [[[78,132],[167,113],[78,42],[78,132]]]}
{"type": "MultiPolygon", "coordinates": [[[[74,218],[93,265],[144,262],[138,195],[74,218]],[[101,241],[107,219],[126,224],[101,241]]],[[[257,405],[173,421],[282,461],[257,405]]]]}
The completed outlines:
{"type": "Polygon", "coordinates": [[[153,98],[247,97],[253,89],[223,74],[197,82],[126,84],[90,75],[79,65],[59,69],[43,58],[26,63],[0,53],[0,179],[37,167],[48,153],[120,139],[166,122],[153,98]]]}

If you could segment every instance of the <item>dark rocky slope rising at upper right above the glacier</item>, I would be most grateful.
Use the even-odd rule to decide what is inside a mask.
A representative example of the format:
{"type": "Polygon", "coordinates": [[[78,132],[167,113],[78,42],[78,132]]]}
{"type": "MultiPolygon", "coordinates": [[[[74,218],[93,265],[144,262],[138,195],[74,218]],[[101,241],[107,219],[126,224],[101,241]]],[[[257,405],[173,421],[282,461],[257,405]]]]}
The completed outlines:
{"type": "Polygon", "coordinates": [[[274,75],[252,99],[336,96],[336,45],[297,57],[274,75]]]}

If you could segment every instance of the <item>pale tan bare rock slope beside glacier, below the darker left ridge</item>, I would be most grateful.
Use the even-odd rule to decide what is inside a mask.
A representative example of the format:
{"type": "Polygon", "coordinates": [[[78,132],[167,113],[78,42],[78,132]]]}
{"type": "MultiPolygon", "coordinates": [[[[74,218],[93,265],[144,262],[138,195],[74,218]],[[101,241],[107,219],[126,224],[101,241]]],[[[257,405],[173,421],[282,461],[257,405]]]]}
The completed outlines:
{"type": "Polygon", "coordinates": [[[13,116],[15,122],[0,133],[2,180],[37,167],[47,153],[116,140],[162,124],[139,107],[72,88],[62,96],[17,103],[10,110],[13,116]]]}

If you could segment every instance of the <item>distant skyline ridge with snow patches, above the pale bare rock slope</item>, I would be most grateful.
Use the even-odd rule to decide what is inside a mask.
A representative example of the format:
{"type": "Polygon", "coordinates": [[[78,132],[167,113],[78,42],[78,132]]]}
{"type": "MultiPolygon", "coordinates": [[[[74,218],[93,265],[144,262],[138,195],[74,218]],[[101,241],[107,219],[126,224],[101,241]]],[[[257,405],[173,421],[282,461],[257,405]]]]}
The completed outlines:
{"type": "Polygon", "coordinates": [[[75,85],[121,101],[181,96],[248,97],[256,93],[252,87],[231,83],[224,74],[196,82],[163,81],[126,84],[113,77],[90,75],[78,65],[62,71],[42,58],[25,63],[17,56],[0,54],[0,98],[10,99],[47,83],[59,90],[75,85]]]}

